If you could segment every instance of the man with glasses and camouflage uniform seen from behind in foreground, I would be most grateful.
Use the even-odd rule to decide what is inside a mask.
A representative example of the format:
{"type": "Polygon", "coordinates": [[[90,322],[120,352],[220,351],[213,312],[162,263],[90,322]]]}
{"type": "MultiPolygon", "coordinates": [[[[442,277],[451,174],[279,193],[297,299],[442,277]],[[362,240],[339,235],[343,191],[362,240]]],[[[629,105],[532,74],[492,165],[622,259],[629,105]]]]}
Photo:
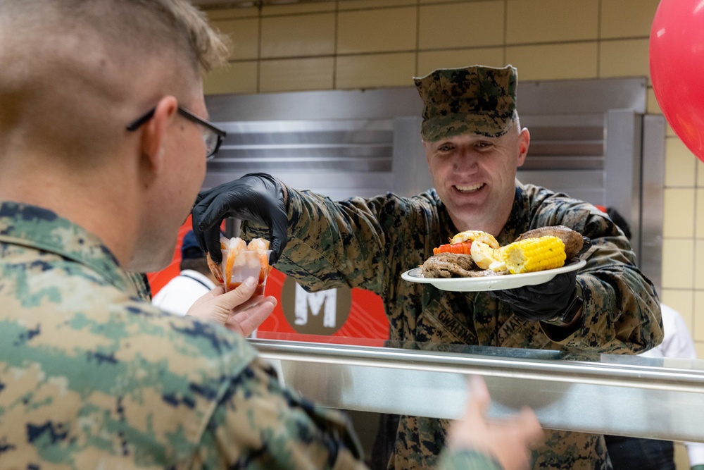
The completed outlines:
{"type": "MultiPolygon", "coordinates": [[[[0,0],[0,469],[362,466],[346,416],[244,338],[276,302],[255,279],[178,317],[130,274],[171,260],[228,56],[187,0],[0,0]]],[[[445,468],[523,468],[539,423],[486,420],[480,389],[445,468]]]]}

